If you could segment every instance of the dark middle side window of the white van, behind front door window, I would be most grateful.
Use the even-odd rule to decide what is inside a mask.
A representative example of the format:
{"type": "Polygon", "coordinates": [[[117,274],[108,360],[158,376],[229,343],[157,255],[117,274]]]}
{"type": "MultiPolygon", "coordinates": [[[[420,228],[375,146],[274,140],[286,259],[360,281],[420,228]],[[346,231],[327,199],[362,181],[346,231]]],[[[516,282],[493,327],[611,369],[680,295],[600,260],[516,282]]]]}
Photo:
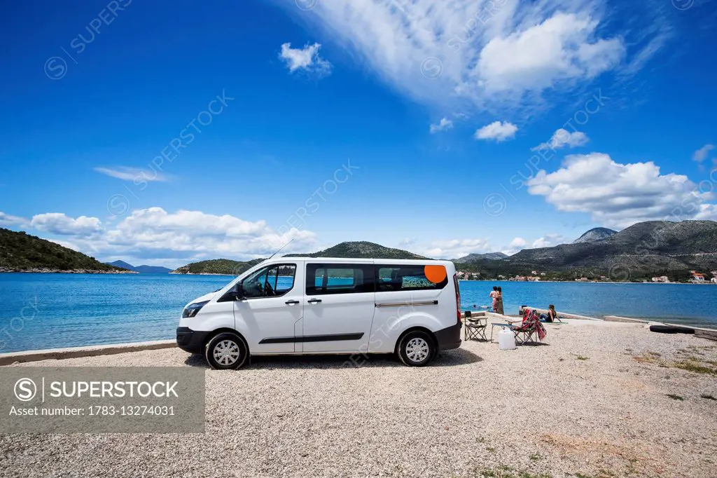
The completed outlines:
{"type": "Polygon", "coordinates": [[[359,294],[374,291],[371,264],[307,264],[306,295],[359,294]]]}

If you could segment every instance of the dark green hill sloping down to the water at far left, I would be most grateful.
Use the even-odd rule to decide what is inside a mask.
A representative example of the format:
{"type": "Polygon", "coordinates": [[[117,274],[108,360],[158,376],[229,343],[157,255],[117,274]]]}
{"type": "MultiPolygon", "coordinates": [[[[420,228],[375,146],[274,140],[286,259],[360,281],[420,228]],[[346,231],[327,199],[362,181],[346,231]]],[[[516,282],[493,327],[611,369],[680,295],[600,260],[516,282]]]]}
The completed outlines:
{"type": "Polygon", "coordinates": [[[0,272],[12,271],[130,272],[49,240],[0,228],[0,272]]]}

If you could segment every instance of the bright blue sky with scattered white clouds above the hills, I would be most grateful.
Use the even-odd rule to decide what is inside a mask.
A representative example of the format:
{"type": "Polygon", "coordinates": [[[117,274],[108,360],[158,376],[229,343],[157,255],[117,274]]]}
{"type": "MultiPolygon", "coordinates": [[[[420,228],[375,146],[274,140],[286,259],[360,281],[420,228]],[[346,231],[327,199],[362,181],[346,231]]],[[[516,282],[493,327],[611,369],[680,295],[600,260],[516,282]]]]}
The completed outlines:
{"type": "Polygon", "coordinates": [[[715,220],[717,2],[624,4],[4,4],[0,225],[179,266],[715,220]]]}

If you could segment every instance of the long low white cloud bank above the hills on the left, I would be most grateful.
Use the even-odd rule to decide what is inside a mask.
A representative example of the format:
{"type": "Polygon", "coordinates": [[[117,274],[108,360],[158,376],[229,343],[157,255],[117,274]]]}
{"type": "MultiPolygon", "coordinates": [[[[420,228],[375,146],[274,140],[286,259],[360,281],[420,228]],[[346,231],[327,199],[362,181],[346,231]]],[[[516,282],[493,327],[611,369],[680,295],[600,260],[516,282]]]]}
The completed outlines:
{"type": "Polygon", "coordinates": [[[171,267],[205,259],[267,257],[290,240],[293,242],[282,254],[306,253],[315,250],[316,243],[315,233],[309,230],[282,232],[262,220],[252,222],[201,211],[167,212],[161,207],[134,210],[115,225],[103,224],[97,217],[73,219],[59,212],[35,215],[26,224],[51,235],[72,236],[70,240],[48,238],[54,243],[136,265],[147,259],[171,267]]]}

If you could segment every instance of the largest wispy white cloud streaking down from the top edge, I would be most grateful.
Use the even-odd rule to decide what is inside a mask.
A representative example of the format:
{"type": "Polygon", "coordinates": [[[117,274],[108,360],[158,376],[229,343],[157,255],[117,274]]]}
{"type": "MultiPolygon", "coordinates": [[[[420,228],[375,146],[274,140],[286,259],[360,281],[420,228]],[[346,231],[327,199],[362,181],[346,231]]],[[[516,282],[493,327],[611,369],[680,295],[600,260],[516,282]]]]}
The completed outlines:
{"type": "MultiPolygon", "coordinates": [[[[402,93],[432,106],[479,108],[543,103],[603,72],[637,72],[665,44],[654,41],[659,9],[607,0],[319,1],[309,16],[326,41],[402,93]],[[622,18],[621,18],[622,19],[622,18]],[[645,46],[647,45],[647,46],[645,46]],[[352,55],[356,52],[357,55],[352,55]]],[[[504,111],[504,110],[496,110],[504,111]]]]}

